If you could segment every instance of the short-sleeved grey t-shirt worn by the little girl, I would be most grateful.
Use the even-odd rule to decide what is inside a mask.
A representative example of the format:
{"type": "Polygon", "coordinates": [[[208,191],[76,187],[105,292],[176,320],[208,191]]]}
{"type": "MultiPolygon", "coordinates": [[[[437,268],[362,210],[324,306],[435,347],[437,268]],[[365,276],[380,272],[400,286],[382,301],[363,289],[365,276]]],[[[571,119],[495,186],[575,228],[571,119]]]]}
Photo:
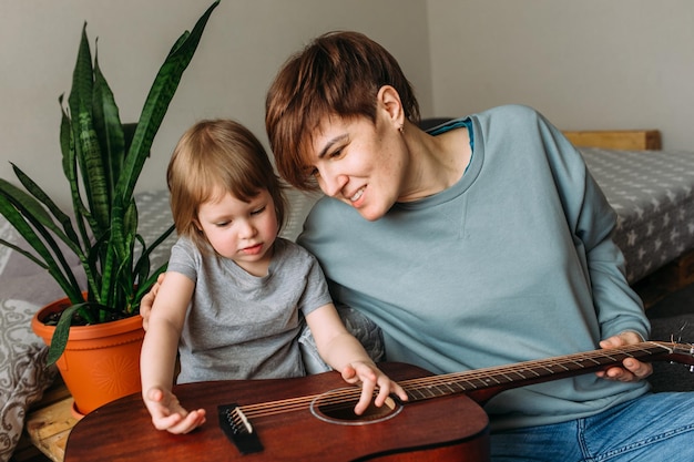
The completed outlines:
{"type": "Polygon", "coordinates": [[[277,238],[268,274],[256,277],[182,237],[167,270],[195,283],[178,342],[178,383],[305,374],[297,345],[303,316],[331,302],[308,251],[277,238]]]}

